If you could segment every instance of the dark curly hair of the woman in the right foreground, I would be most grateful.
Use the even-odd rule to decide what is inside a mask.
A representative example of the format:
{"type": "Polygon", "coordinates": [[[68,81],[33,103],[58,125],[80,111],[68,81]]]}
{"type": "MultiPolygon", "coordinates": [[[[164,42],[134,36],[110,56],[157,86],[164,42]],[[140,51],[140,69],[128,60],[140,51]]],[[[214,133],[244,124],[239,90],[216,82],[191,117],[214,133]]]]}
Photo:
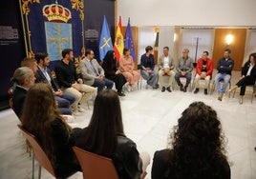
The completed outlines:
{"type": "Polygon", "coordinates": [[[214,109],[194,102],[185,109],[171,135],[173,147],[172,178],[218,178],[224,155],[224,134],[214,109]],[[206,177],[207,178],[207,177],[206,177]]]}

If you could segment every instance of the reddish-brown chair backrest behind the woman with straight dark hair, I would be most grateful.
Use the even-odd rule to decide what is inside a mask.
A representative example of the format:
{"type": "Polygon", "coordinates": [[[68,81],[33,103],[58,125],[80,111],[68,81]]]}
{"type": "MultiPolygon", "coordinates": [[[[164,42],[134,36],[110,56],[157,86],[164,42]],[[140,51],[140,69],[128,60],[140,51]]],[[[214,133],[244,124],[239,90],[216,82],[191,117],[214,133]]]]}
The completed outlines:
{"type": "Polygon", "coordinates": [[[118,179],[117,170],[112,159],[73,147],[83,178],[118,179]]]}

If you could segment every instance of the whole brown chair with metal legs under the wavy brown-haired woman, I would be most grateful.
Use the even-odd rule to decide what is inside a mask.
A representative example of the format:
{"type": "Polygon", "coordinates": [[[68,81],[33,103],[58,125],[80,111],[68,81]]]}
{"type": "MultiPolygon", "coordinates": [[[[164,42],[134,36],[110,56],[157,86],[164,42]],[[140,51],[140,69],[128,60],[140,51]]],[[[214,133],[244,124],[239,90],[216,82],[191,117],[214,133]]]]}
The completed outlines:
{"type": "Polygon", "coordinates": [[[32,135],[31,132],[29,132],[28,130],[24,129],[21,125],[18,125],[18,128],[21,129],[22,133],[24,134],[24,136],[26,137],[26,139],[29,141],[29,143],[32,146],[32,178],[34,175],[34,158],[37,160],[37,162],[39,163],[39,170],[38,170],[38,178],[41,178],[41,166],[48,170],[55,178],[63,178],[63,177],[68,177],[71,176],[74,173],[69,173],[68,176],[56,176],[54,169],[53,169],[53,165],[50,162],[48,156],[46,155],[45,151],[41,148],[40,144],[38,143],[36,137],[34,135],[32,135]]]}

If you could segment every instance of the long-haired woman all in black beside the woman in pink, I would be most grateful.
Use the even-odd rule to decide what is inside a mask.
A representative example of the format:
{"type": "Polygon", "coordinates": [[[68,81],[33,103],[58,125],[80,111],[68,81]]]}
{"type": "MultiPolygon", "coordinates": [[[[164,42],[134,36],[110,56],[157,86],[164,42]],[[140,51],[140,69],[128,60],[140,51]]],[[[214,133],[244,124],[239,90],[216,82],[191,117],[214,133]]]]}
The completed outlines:
{"type": "Polygon", "coordinates": [[[117,60],[114,50],[109,50],[103,58],[102,68],[105,71],[105,77],[114,81],[119,96],[125,96],[122,92],[122,86],[126,83],[125,77],[117,70],[117,60]]]}

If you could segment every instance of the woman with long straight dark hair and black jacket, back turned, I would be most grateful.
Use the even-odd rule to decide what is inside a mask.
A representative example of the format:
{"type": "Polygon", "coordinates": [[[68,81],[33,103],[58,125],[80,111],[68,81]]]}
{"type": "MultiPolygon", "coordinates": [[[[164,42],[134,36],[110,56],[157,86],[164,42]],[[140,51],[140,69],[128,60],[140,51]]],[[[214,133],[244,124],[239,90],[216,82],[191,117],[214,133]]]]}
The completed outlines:
{"type": "Polygon", "coordinates": [[[136,144],[123,132],[120,102],[113,89],[102,90],[96,95],[90,124],[83,129],[75,146],[112,158],[120,179],[140,178],[149,164],[148,154],[147,159],[141,159],[136,144]]]}

